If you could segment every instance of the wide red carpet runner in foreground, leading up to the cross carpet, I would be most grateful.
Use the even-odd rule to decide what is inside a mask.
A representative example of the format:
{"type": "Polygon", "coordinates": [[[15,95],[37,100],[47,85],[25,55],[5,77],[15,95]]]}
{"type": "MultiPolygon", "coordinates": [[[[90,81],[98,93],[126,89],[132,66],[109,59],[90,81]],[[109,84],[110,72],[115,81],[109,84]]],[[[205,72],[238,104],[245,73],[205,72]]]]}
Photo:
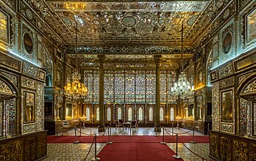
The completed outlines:
{"type": "MultiPolygon", "coordinates": [[[[113,143],[104,146],[98,156],[103,161],[156,161],[177,160],[168,146],[160,143],[113,143]]],[[[181,160],[181,159],[179,159],[181,160]]]]}

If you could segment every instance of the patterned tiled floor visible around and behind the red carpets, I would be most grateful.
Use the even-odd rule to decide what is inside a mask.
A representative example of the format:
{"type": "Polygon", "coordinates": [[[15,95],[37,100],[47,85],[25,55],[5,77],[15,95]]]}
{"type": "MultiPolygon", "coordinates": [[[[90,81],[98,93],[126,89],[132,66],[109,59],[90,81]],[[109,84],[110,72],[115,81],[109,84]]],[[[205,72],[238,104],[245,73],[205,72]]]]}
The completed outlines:
{"type": "MultiPolygon", "coordinates": [[[[171,135],[172,128],[168,127],[165,130],[165,135],[171,135]],[[168,130],[168,131],[167,131],[168,130]]],[[[80,128],[77,129],[77,135],[79,134],[80,128]]],[[[163,130],[161,132],[154,132],[152,127],[140,127],[138,131],[129,131],[127,130],[115,130],[111,128],[111,135],[163,135],[163,130]]],[[[185,129],[174,128],[174,132],[185,133],[182,135],[192,135],[192,131],[185,129]]],[[[96,127],[85,127],[81,128],[81,135],[94,135],[97,132],[96,127]]],[[[106,131],[107,132],[107,131],[106,131]]],[[[74,129],[69,130],[68,132],[60,132],[59,135],[75,135],[74,129]]],[[[104,132],[99,133],[98,135],[107,135],[104,132]]],[[[200,132],[195,132],[195,135],[202,135],[200,132]]],[[[105,143],[97,143],[96,153],[98,154],[101,151],[105,143]]],[[[167,146],[170,147],[173,151],[176,151],[176,143],[167,143],[167,146]]],[[[95,146],[91,143],[48,143],[47,145],[47,155],[48,157],[44,160],[92,160],[95,154],[95,146]],[[91,150],[90,150],[91,149],[91,150]],[[90,153],[88,153],[90,151],[90,153]],[[87,156],[88,155],[88,156],[87,156]],[[87,156],[87,157],[86,157],[87,156]],[[86,157],[86,159],[85,159],[86,157]]],[[[182,157],[185,161],[198,161],[202,160],[201,157],[210,160],[209,156],[209,143],[182,143],[178,144],[178,155],[182,157]],[[185,147],[187,146],[187,148],[185,147]],[[193,154],[191,151],[199,155],[200,157],[193,154]]]]}

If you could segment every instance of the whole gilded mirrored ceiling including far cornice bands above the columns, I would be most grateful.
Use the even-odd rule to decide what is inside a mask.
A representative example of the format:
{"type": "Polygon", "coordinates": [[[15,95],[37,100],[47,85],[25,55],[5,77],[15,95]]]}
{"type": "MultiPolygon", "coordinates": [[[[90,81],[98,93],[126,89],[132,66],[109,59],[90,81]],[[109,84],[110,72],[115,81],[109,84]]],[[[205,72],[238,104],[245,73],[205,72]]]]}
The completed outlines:
{"type": "MultiPolygon", "coordinates": [[[[95,61],[95,53],[108,53],[109,61],[150,61],[152,55],[160,53],[166,55],[165,62],[173,60],[177,64],[180,61],[182,23],[183,44],[188,49],[184,53],[189,58],[193,53],[193,43],[208,25],[205,10],[211,1],[46,2],[51,10],[47,18],[49,25],[69,48],[75,45],[77,29],[79,57],[83,62],[95,61]],[[127,57],[126,54],[133,56],[127,57]]],[[[68,53],[74,56],[72,50],[68,53]]]]}

